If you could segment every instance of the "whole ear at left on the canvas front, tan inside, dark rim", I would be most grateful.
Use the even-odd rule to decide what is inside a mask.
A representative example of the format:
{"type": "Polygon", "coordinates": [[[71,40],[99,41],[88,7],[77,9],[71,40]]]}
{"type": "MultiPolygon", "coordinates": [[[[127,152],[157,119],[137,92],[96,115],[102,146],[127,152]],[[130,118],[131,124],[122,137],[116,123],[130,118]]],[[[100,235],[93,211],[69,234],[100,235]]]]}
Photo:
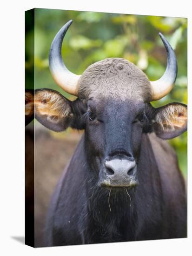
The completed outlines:
{"type": "Polygon", "coordinates": [[[51,89],[36,89],[34,96],[35,118],[53,131],[65,130],[72,120],[71,101],[51,89]]]}

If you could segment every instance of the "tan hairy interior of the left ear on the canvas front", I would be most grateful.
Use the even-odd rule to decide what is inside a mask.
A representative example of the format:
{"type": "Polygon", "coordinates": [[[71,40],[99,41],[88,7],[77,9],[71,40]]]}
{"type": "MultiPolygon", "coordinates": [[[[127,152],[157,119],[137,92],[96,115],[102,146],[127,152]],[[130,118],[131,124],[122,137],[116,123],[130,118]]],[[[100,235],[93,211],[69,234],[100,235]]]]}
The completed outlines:
{"type": "Polygon", "coordinates": [[[39,115],[64,118],[70,113],[70,107],[65,98],[58,93],[40,90],[35,93],[34,98],[35,111],[39,115]]]}

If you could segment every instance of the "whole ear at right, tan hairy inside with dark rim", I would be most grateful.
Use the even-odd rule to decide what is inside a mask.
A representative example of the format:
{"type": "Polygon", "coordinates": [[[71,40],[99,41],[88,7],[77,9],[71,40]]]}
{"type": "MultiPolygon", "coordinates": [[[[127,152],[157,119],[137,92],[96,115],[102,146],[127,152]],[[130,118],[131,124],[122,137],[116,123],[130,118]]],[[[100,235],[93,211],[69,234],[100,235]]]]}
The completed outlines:
{"type": "Polygon", "coordinates": [[[179,103],[156,108],[153,129],[162,139],[172,139],[187,130],[187,106],[179,103]]]}

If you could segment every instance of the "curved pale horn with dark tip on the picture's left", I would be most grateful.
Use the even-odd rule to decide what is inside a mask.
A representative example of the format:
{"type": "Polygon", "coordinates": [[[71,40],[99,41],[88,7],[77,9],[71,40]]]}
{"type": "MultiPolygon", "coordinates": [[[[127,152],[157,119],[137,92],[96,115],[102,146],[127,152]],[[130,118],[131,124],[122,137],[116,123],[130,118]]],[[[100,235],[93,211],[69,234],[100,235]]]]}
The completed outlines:
{"type": "Polygon", "coordinates": [[[78,81],[80,75],[70,72],[61,56],[61,46],[66,34],[67,29],[72,24],[73,20],[69,20],[53,39],[50,51],[49,51],[49,68],[55,82],[67,93],[78,95],[78,81]]]}

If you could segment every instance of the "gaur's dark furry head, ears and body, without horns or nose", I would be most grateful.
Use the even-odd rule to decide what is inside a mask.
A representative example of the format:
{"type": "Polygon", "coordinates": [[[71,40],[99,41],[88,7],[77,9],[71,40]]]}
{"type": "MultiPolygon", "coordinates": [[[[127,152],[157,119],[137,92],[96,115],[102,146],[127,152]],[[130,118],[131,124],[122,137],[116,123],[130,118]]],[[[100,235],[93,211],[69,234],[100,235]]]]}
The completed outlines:
{"type": "Polygon", "coordinates": [[[68,126],[85,130],[53,195],[46,223],[48,246],[186,236],[183,177],[172,149],[156,135],[170,139],[182,134],[187,108],[174,103],[155,109],[150,99],[146,75],[120,58],[88,67],[76,101],[43,90],[35,113],[38,121],[55,131],[68,126]],[[56,112],[54,102],[60,102],[56,112]],[[103,182],[105,163],[113,159],[136,163],[129,175],[137,187],[122,187],[118,178],[113,188],[103,182]]]}

